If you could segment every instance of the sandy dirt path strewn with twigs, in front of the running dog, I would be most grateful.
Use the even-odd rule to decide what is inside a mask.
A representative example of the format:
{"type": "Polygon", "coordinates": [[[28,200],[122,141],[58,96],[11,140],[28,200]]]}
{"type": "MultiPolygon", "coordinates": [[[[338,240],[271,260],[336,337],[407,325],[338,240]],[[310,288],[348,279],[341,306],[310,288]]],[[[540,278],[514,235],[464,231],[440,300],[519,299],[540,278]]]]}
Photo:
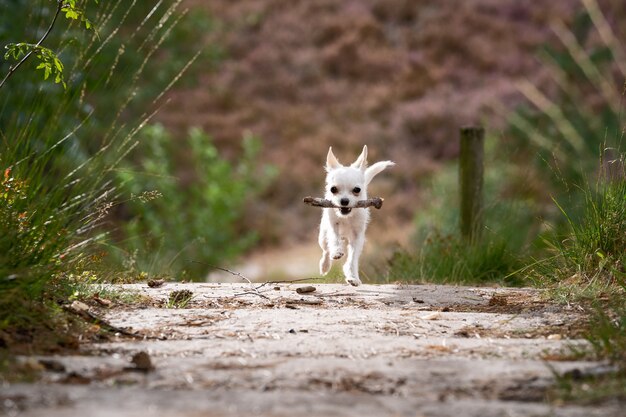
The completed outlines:
{"type": "MultiPolygon", "coordinates": [[[[148,336],[46,359],[2,387],[20,416],[618,416],[543,402],[554,373],[587,372],[582,319],[535,290],[453,286],[125,286],[153,301],[95,311],[148,336]],[[193,298],[166,308],[174,290],[193,298]],[[135,363],[131,362],[133,355],[135,363]],[[88,355],[87,355],[88,354],[88,355]],[[148,361],[154,366],[148,368],[148,361]]],[[[32,360],[32,359],[30,359],[32,360]]]]}

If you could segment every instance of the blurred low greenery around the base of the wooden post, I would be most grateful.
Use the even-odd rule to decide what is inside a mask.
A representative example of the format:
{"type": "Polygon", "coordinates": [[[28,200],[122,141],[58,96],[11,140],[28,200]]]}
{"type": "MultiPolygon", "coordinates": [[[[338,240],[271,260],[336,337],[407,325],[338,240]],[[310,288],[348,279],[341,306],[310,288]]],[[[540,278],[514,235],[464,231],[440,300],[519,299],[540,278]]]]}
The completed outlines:
{"type": "Polygon", "coordinates": [[[389,262],[388,280],[439,283],[520,285],[522,268],[538,233],[536,206],[511,195],[517,168],[496,156],[494,138],[486,150],[481,239],[468,242],[459,231],[458,169],[440,171],[428,189],[430,205],[416,213],[412,248],[398,251],[389,262]]]}

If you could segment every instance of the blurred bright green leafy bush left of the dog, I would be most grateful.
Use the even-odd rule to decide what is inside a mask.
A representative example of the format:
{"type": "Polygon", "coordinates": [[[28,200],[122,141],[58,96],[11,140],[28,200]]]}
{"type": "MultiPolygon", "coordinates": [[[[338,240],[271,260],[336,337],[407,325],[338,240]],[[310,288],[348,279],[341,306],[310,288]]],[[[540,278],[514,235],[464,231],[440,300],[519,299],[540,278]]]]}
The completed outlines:
{"type": "Polygon", "coordinates": [[[220,156],[200,129],[191,129],[185,141],[174,140],[161,125],[147,126],[140,136],[136,163],[120,169],[118,177],[127,194],[156,191],[160,198],[125,205],[130,220],[123,225],[120,246],[137,272],[184,273],[202,280],[210,265],[223,265],[255,241],[241,219],[273,169],[258,165],[260,141],[253,136],[244,136],[237,162],[220,156]]]}

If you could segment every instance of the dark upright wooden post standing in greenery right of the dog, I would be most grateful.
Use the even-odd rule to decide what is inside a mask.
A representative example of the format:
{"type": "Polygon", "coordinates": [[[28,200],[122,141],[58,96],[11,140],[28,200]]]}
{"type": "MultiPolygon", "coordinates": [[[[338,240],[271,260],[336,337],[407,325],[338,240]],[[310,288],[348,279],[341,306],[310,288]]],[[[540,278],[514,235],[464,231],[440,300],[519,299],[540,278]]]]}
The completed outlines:
{"type": "Polygon", "coordinates": [[[485,129],[461,128],[459,187],[461,191],[461,235],[469,242],[480,238],[483,229],[483,153],[485,129]]]}

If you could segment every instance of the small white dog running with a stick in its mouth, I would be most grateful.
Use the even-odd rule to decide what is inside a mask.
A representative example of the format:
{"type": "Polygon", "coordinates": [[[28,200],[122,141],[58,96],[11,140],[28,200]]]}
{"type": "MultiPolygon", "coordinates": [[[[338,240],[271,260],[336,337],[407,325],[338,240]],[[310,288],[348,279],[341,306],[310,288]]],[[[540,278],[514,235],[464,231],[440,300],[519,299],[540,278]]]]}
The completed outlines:
{"type": "Polygon", "coordinates": [[[328,149],[326,157],[326,193],[324,197],[341,208],[324,208],[320,223],[319,244],[322,248],[320,274],[330,270],[332,259],[340,259],[348,250],[343,275],[348,284],[361,284],[359,257],[365,243],[365,229],[369,222],[369,208],[354,208],[359,200],[367,199],[367,186],[376,174],[393,166],[391,161],[367,166],[367,146],[350,166],[343,166],[328,149]],[[332,259],[331,259],[332,258],[332,259]]]}

